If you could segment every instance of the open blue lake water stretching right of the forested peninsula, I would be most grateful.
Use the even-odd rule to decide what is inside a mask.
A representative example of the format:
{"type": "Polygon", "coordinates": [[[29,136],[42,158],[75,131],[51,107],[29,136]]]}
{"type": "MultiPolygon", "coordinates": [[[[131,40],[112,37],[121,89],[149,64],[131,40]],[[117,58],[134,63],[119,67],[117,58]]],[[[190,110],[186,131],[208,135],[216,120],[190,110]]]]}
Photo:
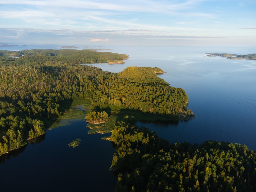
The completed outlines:
{"type": "Polygon", "coordinates": [[[124,65],[96,66],[110,72],[127,66],[160,67],[167,73],[159,77],[186,91],[196,119],[138,123],[171,143],[229,141],[256,150],[256,61],[207,57],[206,52],[245,55],[256,53],[256,47],[136,47],[125,52],[131,58],[124,65]]]}

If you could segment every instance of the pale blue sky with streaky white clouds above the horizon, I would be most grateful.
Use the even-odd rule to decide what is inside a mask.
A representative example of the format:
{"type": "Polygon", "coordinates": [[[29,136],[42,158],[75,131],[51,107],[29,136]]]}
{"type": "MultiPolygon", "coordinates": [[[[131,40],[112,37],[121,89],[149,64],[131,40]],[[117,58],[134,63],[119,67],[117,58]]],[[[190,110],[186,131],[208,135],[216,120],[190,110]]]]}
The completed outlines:
{"type": "Polygon", "coordinates": [[[256,0],[0,0],[0,42],[256,46],[256,0]]]}

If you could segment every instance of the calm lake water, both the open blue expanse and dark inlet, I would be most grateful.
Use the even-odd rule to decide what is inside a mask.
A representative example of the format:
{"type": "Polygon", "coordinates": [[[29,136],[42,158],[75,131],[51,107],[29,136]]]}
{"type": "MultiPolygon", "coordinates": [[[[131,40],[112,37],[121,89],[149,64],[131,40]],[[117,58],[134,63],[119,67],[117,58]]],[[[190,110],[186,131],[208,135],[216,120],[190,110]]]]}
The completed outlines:
{"type": "MultiPolygon", "coordinates": [[[[61,46],[1,49],[59,49],[61,46]]],[[[188,108],[196,115],[188,121],[138,122],[139,126],[156,131],[170,143],[229,141],[256,150],[256,61],[205,54],[246,55],[256,53],[256,47],[108,46],[102,49],[113,49],[111,52],[131,58],[125,64],[92,65],[110,72],[120,72],[129,66],[160,67],[167,73],[158,77],[170,86],[183,88],[189,97],[188,108]]],[[[87,134],[86,125],[84,120],[70,121],[70,125],[47,131],[35,144],[7,154],[0,164],[1,190],[113,191],[116,177],[108,168],[114,148],[109,141],[100,139],[103,135],[87,134]],[[80,145],[68,147],[76,138],[81,139],[80,145]]]]}

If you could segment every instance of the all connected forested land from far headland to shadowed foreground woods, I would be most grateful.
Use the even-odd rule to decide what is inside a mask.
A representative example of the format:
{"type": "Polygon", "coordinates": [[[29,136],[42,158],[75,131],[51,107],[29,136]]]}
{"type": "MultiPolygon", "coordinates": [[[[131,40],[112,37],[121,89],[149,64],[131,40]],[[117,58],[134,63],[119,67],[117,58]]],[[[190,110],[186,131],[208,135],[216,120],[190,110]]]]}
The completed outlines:
{"type": "Polygon", "coordinates": [[[72,113],[73,103],[84,104],[91,133],[112,132],[105,139],[116,148],[111,165],[118,174],[116,191],[255,191],[256,154],[245,145],[170,144],[136,126],[141,119],[195,117],[186,92],[157,77],[162,69],[128,67],[110,73],[80,65],[127,57],[73,49],[0,51],[0,155],[44,134],[72,113]]]}

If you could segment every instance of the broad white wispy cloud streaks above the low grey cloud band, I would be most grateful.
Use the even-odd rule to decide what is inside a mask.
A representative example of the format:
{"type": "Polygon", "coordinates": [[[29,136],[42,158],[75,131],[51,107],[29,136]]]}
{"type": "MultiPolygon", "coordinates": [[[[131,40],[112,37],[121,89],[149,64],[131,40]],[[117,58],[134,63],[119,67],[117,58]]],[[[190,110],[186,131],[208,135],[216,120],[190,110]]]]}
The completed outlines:
{"type": "MultiPolygon", "coordinates": [[[[73,0],[26,0],[7,1],[2,0],[0,4],[6,9],[0,12],[0,18],[21,20],[23,26],[33,25],[39,28],[80,28],[83,29],[153,29],[162,28],[152,20],[145,20],[145,14],[164,14],[175,17],[214,17],[210,13],[187,12],[198,0],[189,0],[182,3],[169,1],[82,1],[73,0]],[[20,5],[18,8],[8,5],[20,5]],[[186,10],[186,12],[183,12],[186,10]],[[181,11],[181,12],[179,12],[181,11]],[[138,14],[140,14],[138,16],[138,14]],[[144,15],[143,15],[144,14],[144,15]],[[136,16],[135,16],[136,15],[136,16]],[[140,17],[140,18],[138,18],[140,17]]],[[[157,17],[157,15],[155,15],[157,17]]],[[[182,24],[176,23],[176,24],[182,24]]],[[[16,25],[19,27],[19,25],[16,25]]]]}

